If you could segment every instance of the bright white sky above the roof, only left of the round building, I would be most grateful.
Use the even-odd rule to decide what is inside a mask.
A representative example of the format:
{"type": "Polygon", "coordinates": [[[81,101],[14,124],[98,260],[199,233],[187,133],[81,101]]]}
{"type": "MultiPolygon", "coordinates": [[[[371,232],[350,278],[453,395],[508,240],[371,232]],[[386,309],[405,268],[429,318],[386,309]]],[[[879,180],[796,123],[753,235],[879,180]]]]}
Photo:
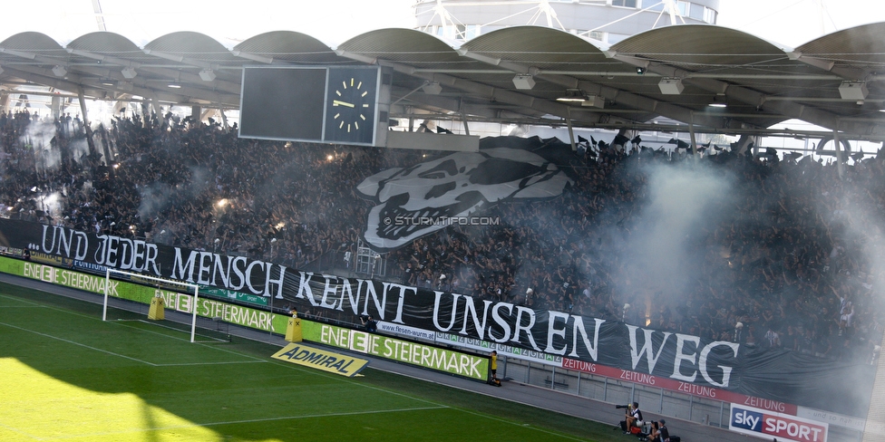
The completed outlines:
{"type": "MultiPolygon", "coordinates": [[[[0,41],[37,31],[64,45],[99,30],[92,0],[9,3],[0,6],[5,16],[34,18],[3,20],[0,41]]],[[[309,34],[336,46],[373,29],[412,27],[414,22],[413,0],[101,0],[101,5],[107,30],[139,46],[163,34],[194,31],[232,48],[254,35],[280,30],[309,34]]]]}

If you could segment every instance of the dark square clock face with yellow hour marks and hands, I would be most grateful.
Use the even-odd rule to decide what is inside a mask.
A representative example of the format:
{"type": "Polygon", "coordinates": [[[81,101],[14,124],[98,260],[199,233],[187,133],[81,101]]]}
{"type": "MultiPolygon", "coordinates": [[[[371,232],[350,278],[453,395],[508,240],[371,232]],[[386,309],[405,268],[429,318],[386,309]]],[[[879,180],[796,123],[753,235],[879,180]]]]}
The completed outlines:
{"type": "Polygon", "coordinates": [[[326,141],[372,144],[378,71],[330,69],[326,92],[326,141]]]}

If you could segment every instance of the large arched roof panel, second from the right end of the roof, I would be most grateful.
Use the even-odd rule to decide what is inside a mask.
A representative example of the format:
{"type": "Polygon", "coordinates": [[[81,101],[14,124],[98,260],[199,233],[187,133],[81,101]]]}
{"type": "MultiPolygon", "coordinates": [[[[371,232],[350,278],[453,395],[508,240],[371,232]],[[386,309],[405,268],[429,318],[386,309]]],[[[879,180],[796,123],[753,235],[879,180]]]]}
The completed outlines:
{"type": "Polygon", "coordinates": [[[773,43],[722,26],[666,26],[633,35],[611,50],[619,57],[647,62],[651,72],[681,79],[685,91],[665,94],[662,100],[695,111],[705,111],[713,101],[724,103],[732,112],[758,113],[748,122],[761,127],[798,118],[803,105],[842,104],[839,94],[833,93],[839,86],[838,76],[799,61],[773,43]],[[769,106],[790,109],[793,115],[759,111],[766,101],[778,101],[781,104],[769,106]]]}

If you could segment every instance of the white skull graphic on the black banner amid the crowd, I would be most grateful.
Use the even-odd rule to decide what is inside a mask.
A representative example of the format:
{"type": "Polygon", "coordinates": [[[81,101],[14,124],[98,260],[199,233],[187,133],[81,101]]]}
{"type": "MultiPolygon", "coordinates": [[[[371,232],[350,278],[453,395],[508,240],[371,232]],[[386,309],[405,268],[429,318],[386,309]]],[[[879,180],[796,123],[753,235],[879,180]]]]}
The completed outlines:
{"type": "Polygon", "coordinates": [[[489,203],[558,197],[571,183],[540,155],[493,148],[390,168],[365,178],[357,190],[377,204],[369,212],[365,240],[388,251],[476,216],[489,203]]]}

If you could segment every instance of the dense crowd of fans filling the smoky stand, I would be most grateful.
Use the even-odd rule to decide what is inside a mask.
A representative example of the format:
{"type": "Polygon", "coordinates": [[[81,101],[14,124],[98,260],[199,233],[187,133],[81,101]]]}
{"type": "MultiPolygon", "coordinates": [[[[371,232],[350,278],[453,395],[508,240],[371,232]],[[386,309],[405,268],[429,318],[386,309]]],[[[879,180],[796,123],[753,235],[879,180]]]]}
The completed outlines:
{"type": "MultiPolygon", "coordinates": [[[[296,268],[334,256],[324,270],[342,272],[354,270],[373,205],[356,186],[443,155],[239,139],[236,126],[171,114],[115,118],[87,135],[77,119],[26,111],[0,114],[0,149],[8,216],[296,268]]],[[[840,178],[835,164],[811,157],[579,152],[560,165],[573,180],[563,195],[493,205],[483,215],[498,216],[496,226],[423,236],[384,256],[384,277],[826,358],[878,351],[881,156],[854,160],[840,178]],[[649,225],[640,210],[648,165],[734,178],[734,191],[705,208],[716,216],[686,236],[693,258],[678,289],[644,279],[626,249],[649,225]]]]}

